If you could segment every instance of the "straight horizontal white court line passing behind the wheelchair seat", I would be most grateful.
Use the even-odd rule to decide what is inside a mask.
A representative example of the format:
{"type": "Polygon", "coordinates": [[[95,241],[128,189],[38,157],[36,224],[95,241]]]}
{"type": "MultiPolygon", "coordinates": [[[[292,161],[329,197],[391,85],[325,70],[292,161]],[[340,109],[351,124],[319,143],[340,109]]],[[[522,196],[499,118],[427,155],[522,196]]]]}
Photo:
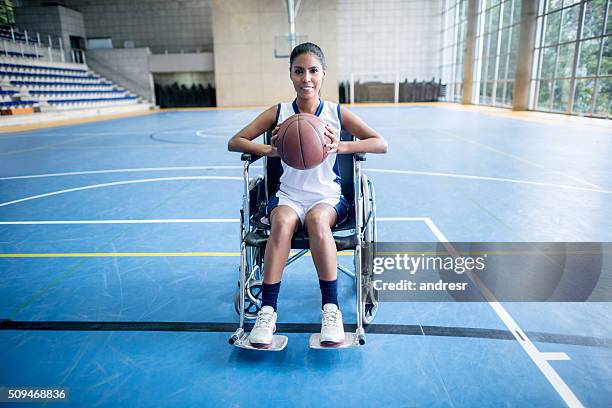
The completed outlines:
{"type": "MultiPolygon", "coordinates": [[[[376,221],[425,221],[425,217],[382,217],[376,221]]],[[[239,218],[168,218],[151,220],[44,220],[0,221],[0,225],[88,225],[88,224],[215,224],[240,222],[239,218]]]]}

